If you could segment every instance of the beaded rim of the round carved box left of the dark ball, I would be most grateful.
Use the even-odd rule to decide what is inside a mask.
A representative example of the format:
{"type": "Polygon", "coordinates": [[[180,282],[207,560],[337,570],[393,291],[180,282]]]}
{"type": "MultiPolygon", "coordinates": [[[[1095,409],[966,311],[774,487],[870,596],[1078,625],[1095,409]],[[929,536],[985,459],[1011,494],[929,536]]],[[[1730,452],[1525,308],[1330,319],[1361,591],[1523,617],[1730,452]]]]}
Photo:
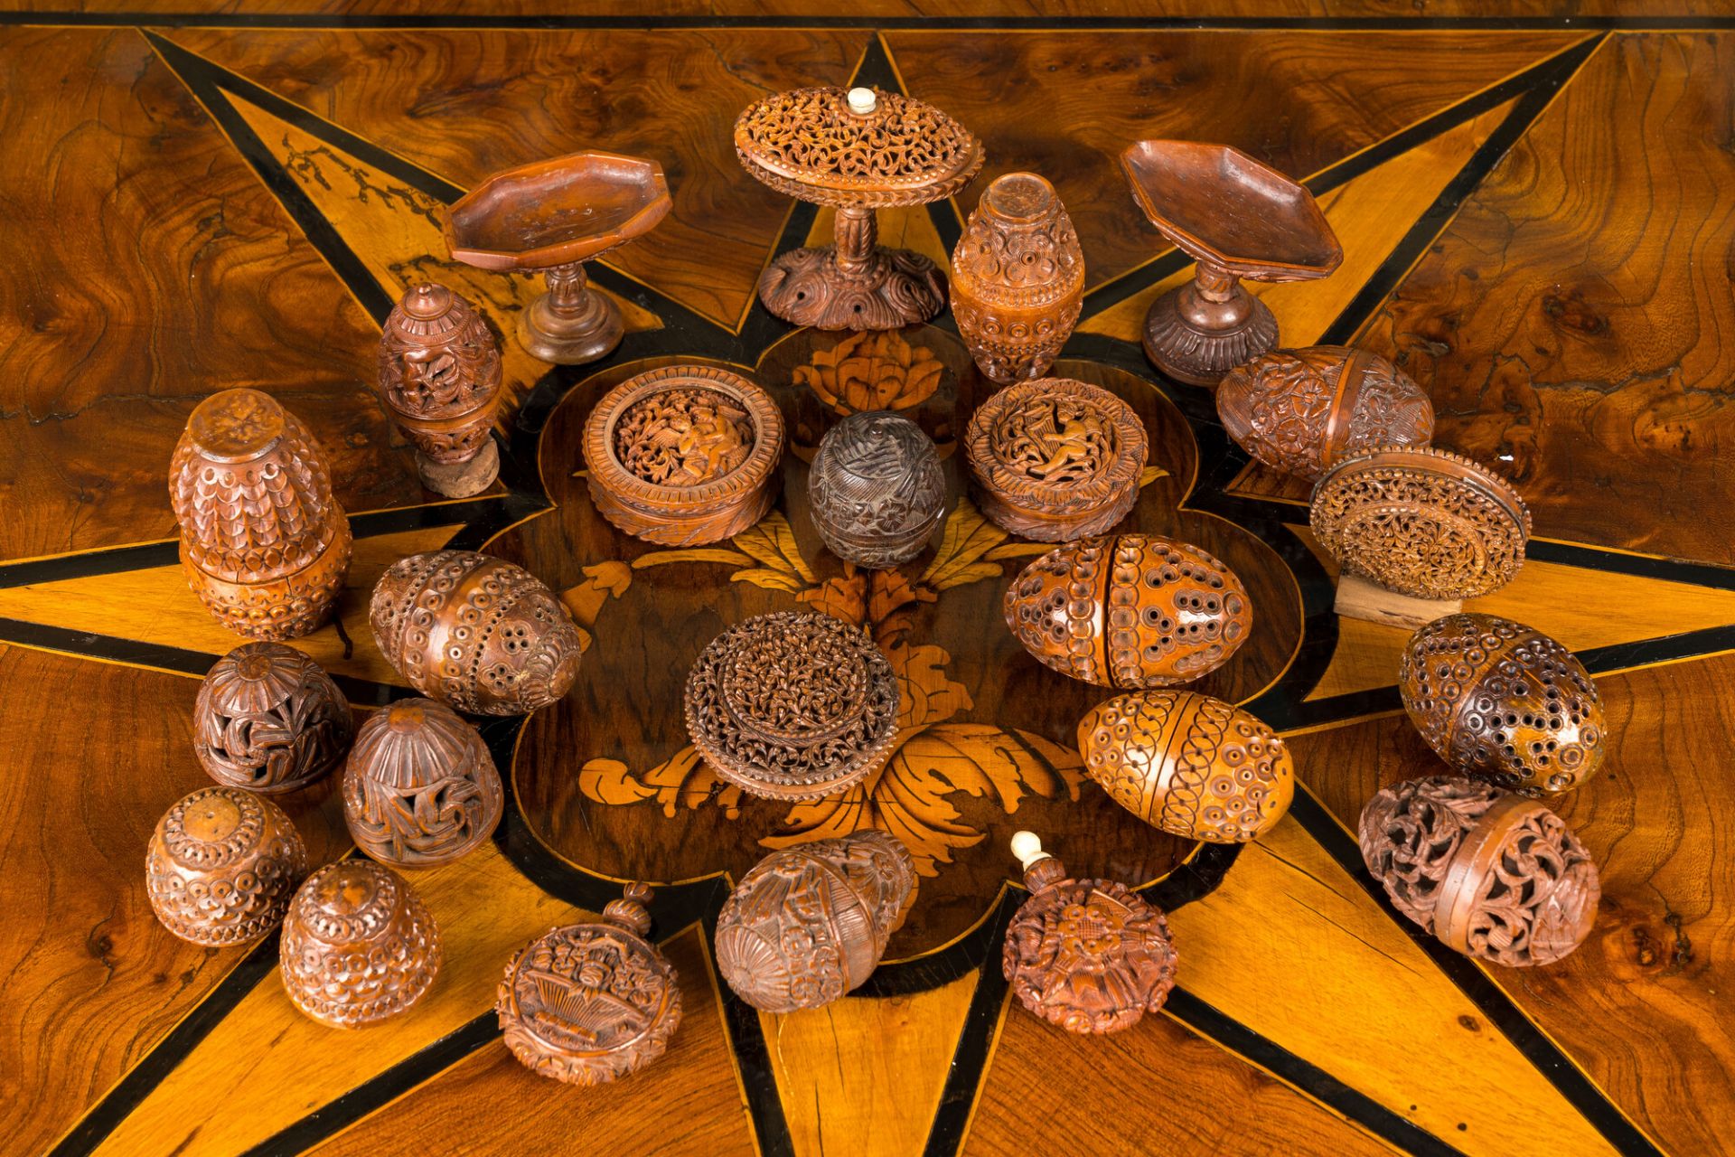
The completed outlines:
{"type": "Polygon", "coordinates": [[[678,522],[706,519],[751,501],[770,480],[781,458],[782,415],[770,394],[737,373],[713,366],[647,369],[604,394],[585,420],[585,465],[590,468],[590,480],[633,510],[678,522]],[[746,461],[699,486],[659,486],[628,470],[614,453],[614,430],[637,402],[668,390],[715,390],[741,402],[753,423],[753,451],[746,461]]]}

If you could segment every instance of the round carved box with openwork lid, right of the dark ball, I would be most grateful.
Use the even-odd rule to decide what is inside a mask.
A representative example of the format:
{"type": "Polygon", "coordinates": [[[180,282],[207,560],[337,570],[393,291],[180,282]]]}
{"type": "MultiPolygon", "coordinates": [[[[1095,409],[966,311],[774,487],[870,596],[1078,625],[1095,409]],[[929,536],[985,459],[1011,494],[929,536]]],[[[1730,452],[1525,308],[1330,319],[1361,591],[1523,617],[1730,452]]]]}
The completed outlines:
{"type": "Polygon", "coordinates": [[[1043,543],[1100,534],[1124,519],[1138,501],[1145,453],[1133,408],[1070,378],[1008,385],[965,432],[982,513],[1043,543]]]}

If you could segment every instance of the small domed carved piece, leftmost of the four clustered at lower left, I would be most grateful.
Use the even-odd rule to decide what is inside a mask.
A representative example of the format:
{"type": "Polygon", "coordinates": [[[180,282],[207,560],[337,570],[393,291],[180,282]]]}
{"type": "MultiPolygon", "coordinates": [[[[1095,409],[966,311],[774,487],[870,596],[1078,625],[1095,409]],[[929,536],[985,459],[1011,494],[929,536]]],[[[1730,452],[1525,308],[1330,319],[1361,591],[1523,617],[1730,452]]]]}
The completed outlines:
{"type": "Polygon", "coordinates": [[[144,879],[151,911],[182,940],[252,944],[290,907],[307,847],[276,803],[239,788],[203,788],[156,820],[144,879]]]}

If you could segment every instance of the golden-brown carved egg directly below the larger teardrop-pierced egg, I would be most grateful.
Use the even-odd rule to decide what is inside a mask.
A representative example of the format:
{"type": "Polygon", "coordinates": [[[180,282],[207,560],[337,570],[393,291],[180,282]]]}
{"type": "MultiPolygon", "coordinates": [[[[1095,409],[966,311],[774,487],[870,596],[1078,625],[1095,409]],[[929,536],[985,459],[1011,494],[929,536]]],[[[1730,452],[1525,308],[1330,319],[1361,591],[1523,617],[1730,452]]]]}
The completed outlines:
{"type": "Polygon", "coordinates": [[[1190,690],[1116,696],[1079,720],[1084,772],[1154,827],[1246,843],[1294,798],[1284,741],[1249,711],[1190,690]]]}

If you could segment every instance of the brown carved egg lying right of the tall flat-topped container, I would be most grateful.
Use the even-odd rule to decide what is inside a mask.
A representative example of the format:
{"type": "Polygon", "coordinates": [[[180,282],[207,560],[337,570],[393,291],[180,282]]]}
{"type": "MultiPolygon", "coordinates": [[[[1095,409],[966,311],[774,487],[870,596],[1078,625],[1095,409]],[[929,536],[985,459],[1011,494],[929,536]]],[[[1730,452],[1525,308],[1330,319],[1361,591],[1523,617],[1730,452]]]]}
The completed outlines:
{"type": "Polygon", "coordinates": [[[368,618],[385,661],[460,711],[522,715],[578,678],[583,642],[566,604],[524,567],[474,550],[399,559],[368,618]]]}

